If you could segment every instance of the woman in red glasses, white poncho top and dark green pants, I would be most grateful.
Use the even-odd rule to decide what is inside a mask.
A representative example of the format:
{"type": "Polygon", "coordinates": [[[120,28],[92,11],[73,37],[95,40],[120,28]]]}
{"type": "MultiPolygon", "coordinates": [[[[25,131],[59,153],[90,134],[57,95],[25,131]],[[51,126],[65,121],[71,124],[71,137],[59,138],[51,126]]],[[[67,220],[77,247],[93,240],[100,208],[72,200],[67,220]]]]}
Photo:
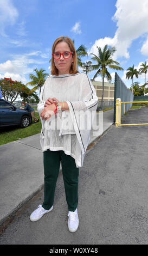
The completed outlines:
{"type": "Polygon", "coordinates": [[[96,112],[98,97],[88,76],[77,70],[76,51],[70,38],[57,38],[52,56],[52,76],[44,83],[37,107],[42,121],[44,202],[30,215],[30,220],[37,221],[53,209],[61,162],[69,210],[68,228],[75,232],[79,226],[79,167],[82,167],[89,142],[91,113],[96,112]]]}

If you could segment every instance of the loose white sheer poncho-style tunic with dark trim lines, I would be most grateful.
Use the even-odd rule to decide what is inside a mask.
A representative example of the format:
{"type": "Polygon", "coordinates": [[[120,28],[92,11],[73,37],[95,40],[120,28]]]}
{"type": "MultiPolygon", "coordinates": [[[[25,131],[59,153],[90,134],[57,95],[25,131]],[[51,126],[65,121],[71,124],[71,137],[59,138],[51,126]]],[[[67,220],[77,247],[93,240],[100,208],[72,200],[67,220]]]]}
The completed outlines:
{"type": "Polygon", "coordinates": [[[63,150],[75,159],[76,167],[82,167],[90,139],[92,113],[98,105],[95,88],[85,73],[50,76],[41,89],[39,114],[49,97],[66,101],[69,111],[63,111],[61,117],[57,113],[46,121],[41,119],[42,151],[63,150]]]}

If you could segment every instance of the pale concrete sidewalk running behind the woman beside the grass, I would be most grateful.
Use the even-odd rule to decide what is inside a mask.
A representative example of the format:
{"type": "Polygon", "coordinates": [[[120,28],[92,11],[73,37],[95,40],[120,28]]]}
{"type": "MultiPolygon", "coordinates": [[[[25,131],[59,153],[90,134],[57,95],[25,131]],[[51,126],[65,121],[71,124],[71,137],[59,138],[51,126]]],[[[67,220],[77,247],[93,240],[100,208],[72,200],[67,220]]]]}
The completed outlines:
{"type": "MultiPolygon", "coordinates": [[[[89,146],[112,124],[113,109],[104,112],[103,130],[96,136],[91,134],[89,146]]],[[[0,146],[0,224],[43,187],[43,154],[39,137],[40,133],[0,146]]]]}

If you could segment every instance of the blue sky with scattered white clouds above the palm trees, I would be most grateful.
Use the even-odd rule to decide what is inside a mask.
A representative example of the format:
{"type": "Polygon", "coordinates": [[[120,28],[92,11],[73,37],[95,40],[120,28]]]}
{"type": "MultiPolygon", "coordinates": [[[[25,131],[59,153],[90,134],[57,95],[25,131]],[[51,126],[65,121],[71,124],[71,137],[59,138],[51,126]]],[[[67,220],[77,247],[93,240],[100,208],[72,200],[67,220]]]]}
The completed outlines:
{"type": "MultiPolygon", "coordinates": [[[[148,0],[0,0],[0,25],[0,78],[24,84],[35,68],[50,74],[52,45],[61,35],[74,39],[76,49],[87,47],[83,62],[97,53],[96,46],[115,46],[113,59],[124,68],[118,75],[128,88],[126,69],[148,61],[148,0]]],[[[136,81],[143,84],[144,75],[136,81]]]]}

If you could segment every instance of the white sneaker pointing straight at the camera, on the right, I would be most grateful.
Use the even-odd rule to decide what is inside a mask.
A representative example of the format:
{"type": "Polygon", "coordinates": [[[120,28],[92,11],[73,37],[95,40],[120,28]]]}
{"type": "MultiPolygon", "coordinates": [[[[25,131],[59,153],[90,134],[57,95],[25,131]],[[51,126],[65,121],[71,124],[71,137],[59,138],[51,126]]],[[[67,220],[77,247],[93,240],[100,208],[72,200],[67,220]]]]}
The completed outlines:
{"type": "Polygon", "coordinates": [[[78,211],[68,211],[68,228],[70,232],[75,232],[79,226],[78,211]]]}

